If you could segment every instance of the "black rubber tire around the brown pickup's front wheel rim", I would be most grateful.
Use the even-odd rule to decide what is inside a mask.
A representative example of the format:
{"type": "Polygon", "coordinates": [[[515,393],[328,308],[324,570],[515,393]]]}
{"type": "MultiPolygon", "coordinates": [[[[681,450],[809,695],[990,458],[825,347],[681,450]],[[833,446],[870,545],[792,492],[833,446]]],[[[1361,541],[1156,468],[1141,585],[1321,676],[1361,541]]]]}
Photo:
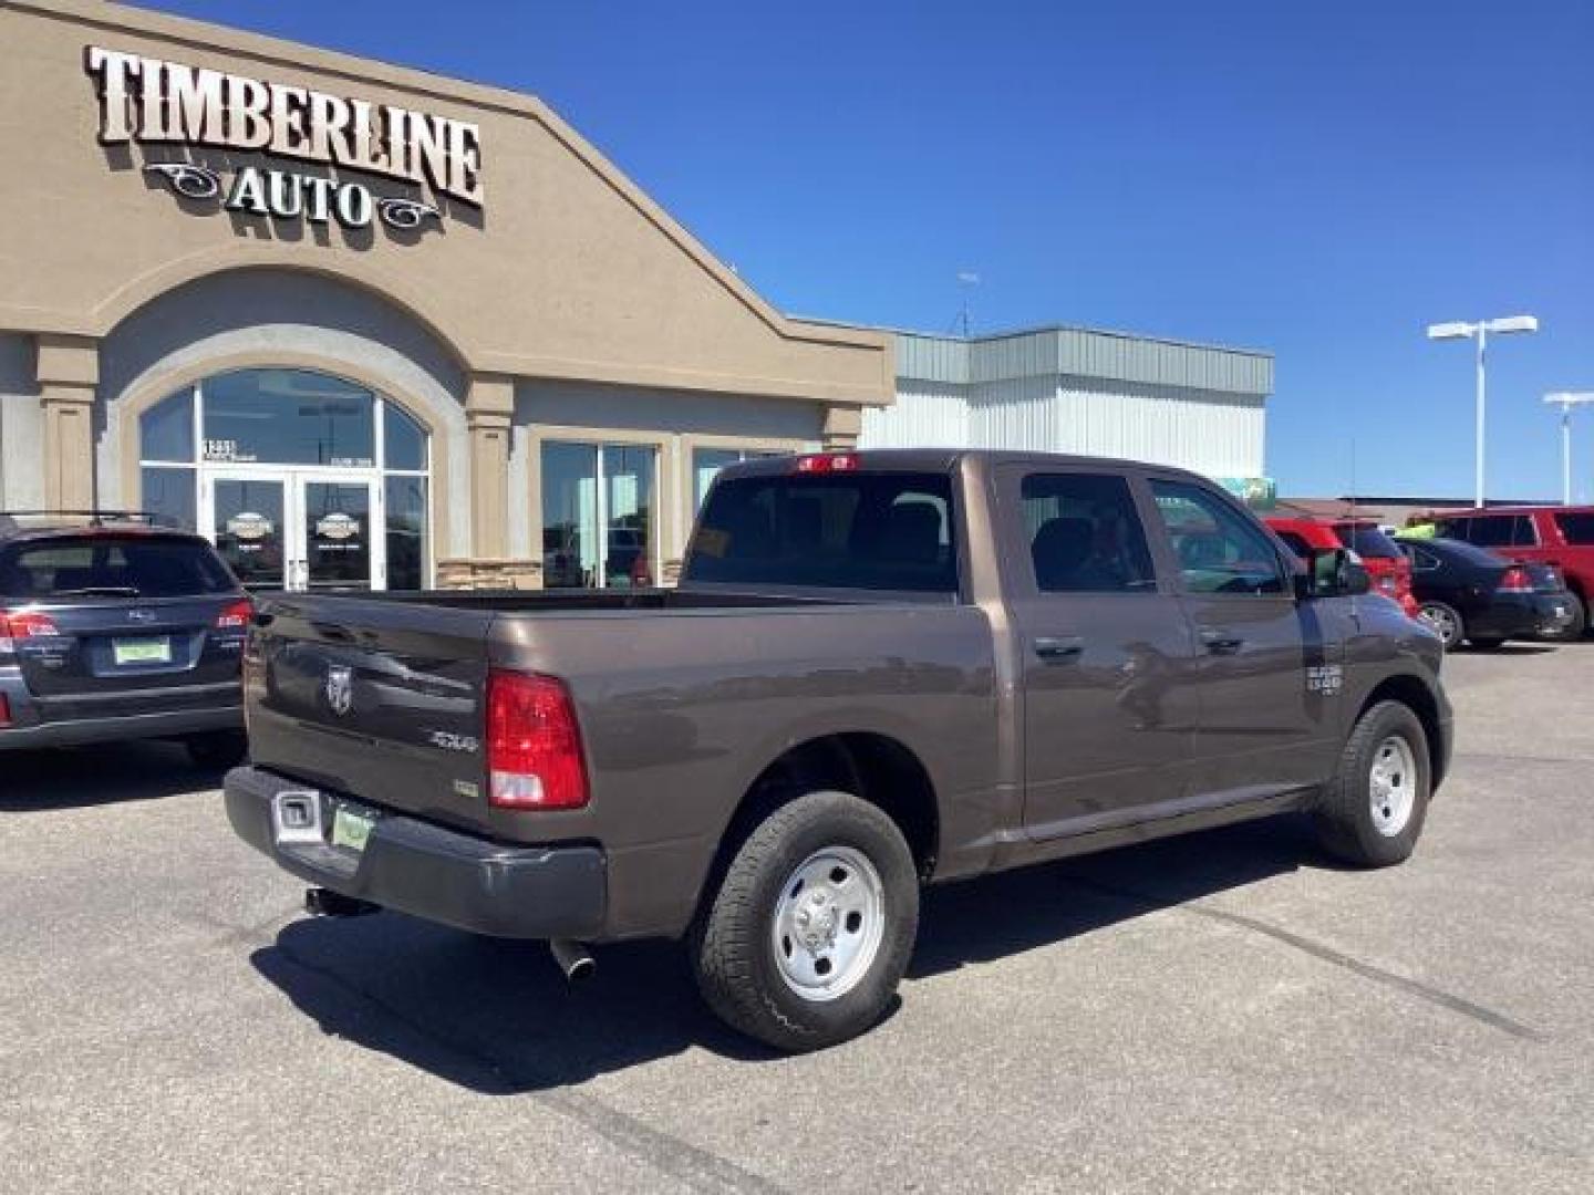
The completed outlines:
{"type": "MultiPolygon", "coordinates": [[[[1401,771],[1404,773],[1404,768],[1401,771]]],[[[1400,701],[1380,701],[1368,709],[1350,731],[1334,778],[1323,789],[1313,813],[1318,840],[1329,854],[1347,864],[1358,867],[1400,864],[1411,857],[1422,836],[1431,795],[1433,771],[1428,735],[1422,728],[1422,720],[1400,701]],[[1395,821],[1385,821],[1380,829],[1374,813],[1372,768],[1384,744],[1396,738],[1406,742],[1414,789],[1404,821],[1398,825],[1395,821]]],[[[1388,811],[1390,806],[1384,806],[1385,816],[1388,811]]]]}

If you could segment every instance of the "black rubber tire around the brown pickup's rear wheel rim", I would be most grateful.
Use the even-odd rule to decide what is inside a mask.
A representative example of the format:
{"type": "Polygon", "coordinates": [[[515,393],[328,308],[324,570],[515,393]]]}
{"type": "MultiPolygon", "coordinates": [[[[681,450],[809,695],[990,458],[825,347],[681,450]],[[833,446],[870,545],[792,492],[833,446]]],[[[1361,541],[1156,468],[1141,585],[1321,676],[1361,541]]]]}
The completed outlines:
{"type": "MultiPolygon", "coordinates": [[[[832,938],[850,932],[848,926],[850,918],[832,938]]],[[[720,1020],[778,1050],[799,1052],[872,1028],[896,994],[917,934],[918,875],[896,822],[850,793],[811,792],[776,808],[741,841],[698,915],[689,948],[698,989],[720,1020]],[[776,915],[799,867],[837,848],[861,854],[875,870],[880,937],[872,956],[859,956],[867,967],[846,991],[808,999],[776,959],[776,915]]]]}

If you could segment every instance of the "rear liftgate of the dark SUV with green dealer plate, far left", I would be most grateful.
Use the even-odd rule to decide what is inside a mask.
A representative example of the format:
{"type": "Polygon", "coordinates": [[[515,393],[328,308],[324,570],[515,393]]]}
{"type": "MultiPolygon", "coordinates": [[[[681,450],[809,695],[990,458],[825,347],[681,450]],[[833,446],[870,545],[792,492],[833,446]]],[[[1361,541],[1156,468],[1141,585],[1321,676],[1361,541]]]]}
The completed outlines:
{"type": "MultiPolygon", "coordinates": [[[[84,532],[11,545],[0,604],[37,615],[18,639],[29,690],[51,698],[131,698],[137,690],[236,684],[245,618],[238,582],[191,535],[84,532]]],[[[234,704],[236,696],[226,704],[234,704]]],[[[135,706],[105,712],[134,714],[135,706]]]]}

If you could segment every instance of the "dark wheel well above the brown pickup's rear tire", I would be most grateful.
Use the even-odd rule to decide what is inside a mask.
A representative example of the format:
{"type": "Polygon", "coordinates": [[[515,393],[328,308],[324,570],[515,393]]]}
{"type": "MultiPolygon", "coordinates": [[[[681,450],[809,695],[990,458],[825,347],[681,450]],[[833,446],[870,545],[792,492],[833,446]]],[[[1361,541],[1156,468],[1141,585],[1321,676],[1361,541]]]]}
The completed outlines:
{"type": "Polygon", "coordinates": [[[805,792],[840,789],[880,806],[896,822],[921,878],[936,867],[940,816],[918,757],[885,735],[846,733],[787,749],[752,782],[720,843],[720,864],[773,809],[805,792]]]}

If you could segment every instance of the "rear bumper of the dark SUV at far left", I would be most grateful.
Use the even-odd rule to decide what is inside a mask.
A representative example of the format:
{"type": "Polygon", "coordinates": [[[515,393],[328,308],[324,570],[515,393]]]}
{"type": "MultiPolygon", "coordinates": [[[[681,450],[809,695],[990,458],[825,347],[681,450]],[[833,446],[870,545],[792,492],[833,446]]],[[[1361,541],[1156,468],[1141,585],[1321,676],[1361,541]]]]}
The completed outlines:
{"type": "Polygon", "coordinates": [[[62,715],[59,704],[40,701],[29,692],[21,676],[6,676],[0,669],[0,696],[5,698],[11,725],[0,728],[0,750],[29,747],[72,747],[84,742],[115,742],[120,739],[159,739],[182,735],[202,735],[212,730],[242,730],[244,707],[236,684],[172,688],[172,709],[161,709],[164,693],[150,695],[142,690],[116,696],[72,701],[62,715]],[[202,703],[202,704],[201,704],[202,703]],[[134,706],[139,712],[129,714],[134,706]]]}

